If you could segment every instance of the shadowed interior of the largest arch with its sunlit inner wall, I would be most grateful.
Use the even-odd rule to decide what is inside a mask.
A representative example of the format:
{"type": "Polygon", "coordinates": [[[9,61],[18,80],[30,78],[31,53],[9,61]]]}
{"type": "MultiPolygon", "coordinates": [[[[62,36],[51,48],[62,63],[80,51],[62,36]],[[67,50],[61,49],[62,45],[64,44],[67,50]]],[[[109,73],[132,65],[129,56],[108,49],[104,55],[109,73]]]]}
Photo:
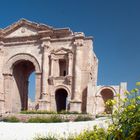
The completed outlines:
{"type": "MultiPolygon", "coordinates": [[[[28,110],[28,93],[29,93],[29,77],[35,71],[32,62],[27,60],[17,61],[13,65],[13,105],[12,111],[19,112],[21,110],[28,110]]],[[[31,89],[30,89],[31,90],[31,89]]],[[[34,90],[33,90],[34,91],[34,90]]]]}

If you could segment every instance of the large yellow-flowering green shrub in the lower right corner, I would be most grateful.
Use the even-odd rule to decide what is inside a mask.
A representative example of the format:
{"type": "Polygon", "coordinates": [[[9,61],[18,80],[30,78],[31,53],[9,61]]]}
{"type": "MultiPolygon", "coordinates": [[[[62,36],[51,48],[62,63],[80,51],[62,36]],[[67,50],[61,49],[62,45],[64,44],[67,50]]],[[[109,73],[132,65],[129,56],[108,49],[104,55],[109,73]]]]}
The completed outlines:
{"type": "MultiPolygon", "coordinates": [[[[113,107],[111,114],[112,124],[108,128],[108,138],[111,140],[138,140],[140,139],[140,82],[137,88],[126,91],[126,98],[107,101],[113,107]]],[[[118,97],[120,95],[118,94],[118,97]]]]}

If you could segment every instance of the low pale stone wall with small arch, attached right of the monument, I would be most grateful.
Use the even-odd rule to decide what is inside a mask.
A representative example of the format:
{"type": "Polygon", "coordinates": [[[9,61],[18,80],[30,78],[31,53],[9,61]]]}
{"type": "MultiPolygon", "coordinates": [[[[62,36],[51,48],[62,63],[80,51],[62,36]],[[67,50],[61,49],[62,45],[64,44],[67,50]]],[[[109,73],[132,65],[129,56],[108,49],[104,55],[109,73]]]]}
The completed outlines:
{"type": "MultiPolygon", "coordinates": [[[[109,85],[109,86],[92,86],[88,85],[88,96],[87,96],[87,112],[93,114],[102,114],[106,112],[105,101],[108,99],[115,99],[119,103],[119,97],[124,98],[124,92],[127,90],[126,83],[120,83],[120,85],[109,85]],[[103,91],[104,97],[103,97],[103,91]],[[110,95],[112,93],[112,96],[110,95]]],[[[107,113],[107,112],[106,112],[107,113]]]]}

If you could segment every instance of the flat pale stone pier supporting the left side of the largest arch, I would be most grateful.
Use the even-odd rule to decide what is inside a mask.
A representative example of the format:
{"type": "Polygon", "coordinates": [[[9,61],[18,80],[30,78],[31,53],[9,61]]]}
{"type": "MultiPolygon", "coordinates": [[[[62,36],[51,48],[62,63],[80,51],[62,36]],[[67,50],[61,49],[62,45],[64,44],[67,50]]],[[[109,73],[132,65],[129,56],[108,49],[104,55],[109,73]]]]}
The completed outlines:
{"type": "Polygon", "coordinates": [[[12,75],[4,74],[4,97],[5,97],[5,112],[12,112],[12,95],[11,95],[12,75]]]}

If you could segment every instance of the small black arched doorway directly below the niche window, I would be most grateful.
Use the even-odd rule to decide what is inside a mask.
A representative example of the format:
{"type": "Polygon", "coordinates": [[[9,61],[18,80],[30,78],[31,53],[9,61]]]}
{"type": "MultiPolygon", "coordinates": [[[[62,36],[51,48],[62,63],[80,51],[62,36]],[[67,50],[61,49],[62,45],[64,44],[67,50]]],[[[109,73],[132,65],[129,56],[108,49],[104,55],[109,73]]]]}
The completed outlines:
{"type": "Polygon", "coordinates": [[[65,89],[58,89],[55,92],[55,101],[57,112],[66,110],[68,93],[65,89]]]}

